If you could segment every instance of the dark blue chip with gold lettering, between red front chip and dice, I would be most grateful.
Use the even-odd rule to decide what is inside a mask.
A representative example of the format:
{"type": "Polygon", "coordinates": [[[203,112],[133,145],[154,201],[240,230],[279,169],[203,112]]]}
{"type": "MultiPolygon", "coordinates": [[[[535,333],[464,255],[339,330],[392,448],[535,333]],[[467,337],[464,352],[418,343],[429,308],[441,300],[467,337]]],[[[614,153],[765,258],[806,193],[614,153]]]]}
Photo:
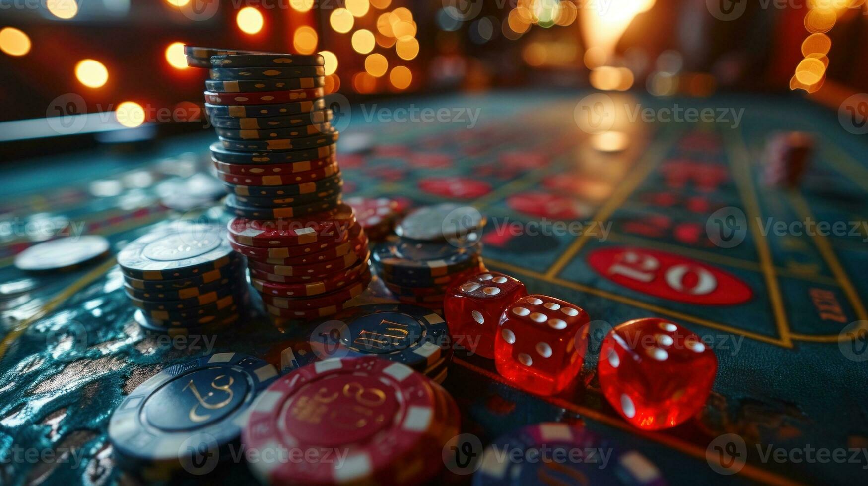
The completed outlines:
{"type": "Polygon", "coordinates": [[[330,318],[342,321],[341,351],[377,355],[424,371],[449,356],[449,326],[437,312],[407,304],[358,305],[330,318]]]}

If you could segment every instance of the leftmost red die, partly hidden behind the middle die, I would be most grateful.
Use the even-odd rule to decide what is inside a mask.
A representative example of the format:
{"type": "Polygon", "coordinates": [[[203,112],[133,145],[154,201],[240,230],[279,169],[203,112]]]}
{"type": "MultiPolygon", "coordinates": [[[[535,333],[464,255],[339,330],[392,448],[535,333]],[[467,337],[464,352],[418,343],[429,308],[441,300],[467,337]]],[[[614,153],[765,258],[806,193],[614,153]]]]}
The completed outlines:
{"type": "Polygon", "coordinates": [[[527,294],[522,282],[503,273],[480,272],[458,279],[446,291],[443,305],[452,339],[485,358],[494,358],[494,337],[503,309],[527,294]]]}

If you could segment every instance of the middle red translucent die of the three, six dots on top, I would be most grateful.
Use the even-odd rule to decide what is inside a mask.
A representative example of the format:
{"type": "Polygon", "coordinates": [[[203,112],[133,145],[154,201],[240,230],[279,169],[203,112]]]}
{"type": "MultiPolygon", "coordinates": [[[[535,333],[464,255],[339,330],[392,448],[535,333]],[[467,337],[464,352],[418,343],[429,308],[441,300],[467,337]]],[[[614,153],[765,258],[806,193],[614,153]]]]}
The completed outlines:
{"type": "Polygon", "coordinates": [[[588,313],[547,295],[510,304],[495,336],[497,372],[523,390],[553,395],[582,368],[588,313]]]}

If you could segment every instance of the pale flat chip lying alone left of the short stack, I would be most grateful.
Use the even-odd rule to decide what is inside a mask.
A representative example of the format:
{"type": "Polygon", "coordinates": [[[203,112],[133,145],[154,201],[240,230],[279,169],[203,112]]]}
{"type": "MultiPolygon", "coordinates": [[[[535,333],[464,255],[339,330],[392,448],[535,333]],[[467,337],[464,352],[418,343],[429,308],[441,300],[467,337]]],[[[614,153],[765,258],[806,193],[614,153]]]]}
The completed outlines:
{"type": "Polygon", "coordinates": [[[102,236],[70,236],[30,246],[15,257],[15,266],[30,272],[71,270],[109,254],[102,236]]]}

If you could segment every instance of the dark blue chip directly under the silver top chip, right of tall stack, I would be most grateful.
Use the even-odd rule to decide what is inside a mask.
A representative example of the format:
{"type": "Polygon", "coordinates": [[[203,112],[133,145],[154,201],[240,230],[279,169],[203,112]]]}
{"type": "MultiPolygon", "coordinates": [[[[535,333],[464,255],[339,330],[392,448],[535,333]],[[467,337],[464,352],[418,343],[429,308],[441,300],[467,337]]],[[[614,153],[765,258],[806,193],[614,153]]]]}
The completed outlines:
{"type": "Polygon", "coordinates": [[[382,273],[407,279],[431,279],[457,273],[478,263],[477,244],[458,248],[448,243],[391,238],[378,245],[372,258],[382,273]]]}

